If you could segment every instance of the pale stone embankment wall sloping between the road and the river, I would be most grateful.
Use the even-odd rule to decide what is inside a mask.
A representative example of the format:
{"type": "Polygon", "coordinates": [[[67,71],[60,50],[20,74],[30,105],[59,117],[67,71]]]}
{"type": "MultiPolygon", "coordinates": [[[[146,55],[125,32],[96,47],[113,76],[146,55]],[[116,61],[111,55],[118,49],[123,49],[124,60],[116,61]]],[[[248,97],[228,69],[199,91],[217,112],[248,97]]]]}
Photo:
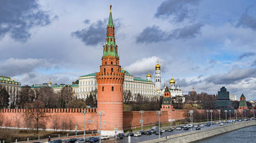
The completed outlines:
{"type": "Polygon", "coordinates": [[[185,132],[183,134],[175,134],[171,136],[162,137],[160,139],[148,140],[143,141],[141,143],[151,143],[151,142],[195,142],[199,140],[206,139],[208,137],[212,137],[215,135],[223,134],[225,132],[238,130],[243,127],[248,126],[255,126],[256,120],[253,121],[245,121],[245,122],[238,122],[236,124],[229,124],[224,126],[216,126],[216,127],[209,127],[205,130],[199,131],[192,131],[192,132],[185,132]]]}

